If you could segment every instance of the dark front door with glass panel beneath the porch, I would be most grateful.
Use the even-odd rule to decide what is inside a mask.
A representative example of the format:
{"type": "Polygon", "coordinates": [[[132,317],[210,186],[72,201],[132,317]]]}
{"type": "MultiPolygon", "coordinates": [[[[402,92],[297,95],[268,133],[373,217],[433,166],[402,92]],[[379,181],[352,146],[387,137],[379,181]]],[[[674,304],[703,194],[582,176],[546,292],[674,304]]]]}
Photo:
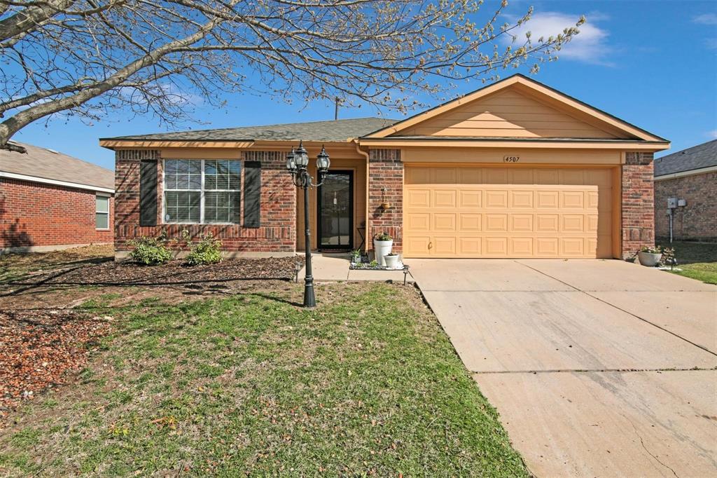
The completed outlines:
{"type": "Polygon", "coordinates": [[[318,188],[318,248],[353,248],[353,171],[329,171],[318,188]]]}

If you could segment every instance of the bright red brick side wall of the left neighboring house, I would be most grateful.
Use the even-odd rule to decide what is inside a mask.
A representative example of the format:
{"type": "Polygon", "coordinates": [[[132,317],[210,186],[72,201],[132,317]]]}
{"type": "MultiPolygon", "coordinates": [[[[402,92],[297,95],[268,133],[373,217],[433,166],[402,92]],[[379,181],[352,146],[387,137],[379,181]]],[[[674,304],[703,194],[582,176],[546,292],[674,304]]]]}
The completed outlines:
{"type": "Polygon", "coordinates": [[[0,248],[111,243],[95,229],[95,192],[39,182],[0,179],[0,248]]]}

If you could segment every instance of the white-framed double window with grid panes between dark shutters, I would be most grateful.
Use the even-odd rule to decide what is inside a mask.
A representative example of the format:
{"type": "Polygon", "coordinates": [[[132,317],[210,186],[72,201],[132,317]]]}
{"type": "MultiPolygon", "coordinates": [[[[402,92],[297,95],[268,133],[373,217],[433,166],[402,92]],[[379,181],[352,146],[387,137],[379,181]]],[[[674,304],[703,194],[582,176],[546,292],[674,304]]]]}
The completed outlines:
{"type": "Polygon", "coordinates": [[[242,166],[229,159],[166,159],[165,222],[239,223],[242,166]]]}

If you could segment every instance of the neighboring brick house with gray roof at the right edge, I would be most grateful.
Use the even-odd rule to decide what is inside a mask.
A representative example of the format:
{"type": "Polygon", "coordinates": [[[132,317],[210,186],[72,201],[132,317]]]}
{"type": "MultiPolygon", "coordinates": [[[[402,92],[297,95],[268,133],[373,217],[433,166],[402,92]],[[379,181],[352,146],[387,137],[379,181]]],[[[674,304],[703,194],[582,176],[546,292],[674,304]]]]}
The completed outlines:
{"type": "Polygon", "coordinates": [[[673,199],[684,201],[671,208],[674,240],[717,242],[717,139],[655,159],[654,180],[658,238],[670,237],[673,199]]]}

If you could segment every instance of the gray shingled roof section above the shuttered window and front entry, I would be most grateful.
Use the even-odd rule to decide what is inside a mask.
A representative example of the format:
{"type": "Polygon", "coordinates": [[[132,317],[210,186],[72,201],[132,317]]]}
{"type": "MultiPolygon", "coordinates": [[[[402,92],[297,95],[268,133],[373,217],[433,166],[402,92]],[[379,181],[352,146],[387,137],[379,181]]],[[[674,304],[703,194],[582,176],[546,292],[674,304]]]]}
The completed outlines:
{"type": "Polygon", "coordinates": [[[176,133],[140,134],[103,139],[134,139],[158,141],[346,141],[391,126],[397,120],[386,118],[355,118],[309,123],[245,126],[243,128],[204,129],[176,133]]]}

